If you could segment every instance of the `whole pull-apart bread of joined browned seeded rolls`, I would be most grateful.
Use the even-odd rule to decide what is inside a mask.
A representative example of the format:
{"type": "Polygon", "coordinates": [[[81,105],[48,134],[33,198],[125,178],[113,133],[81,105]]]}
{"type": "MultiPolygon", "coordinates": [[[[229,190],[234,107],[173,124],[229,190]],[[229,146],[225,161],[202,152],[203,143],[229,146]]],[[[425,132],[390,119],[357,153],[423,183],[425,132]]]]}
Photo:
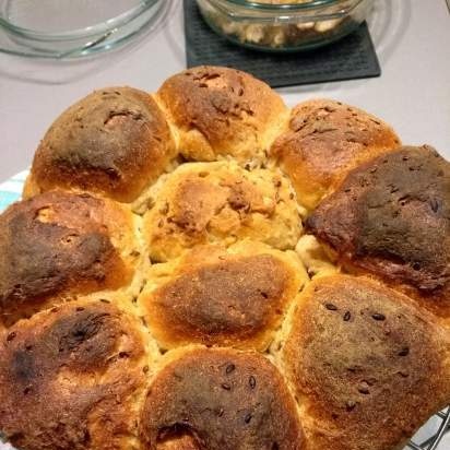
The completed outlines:
{"type": "Polygon", "coordinates": [[[401,450],[450,404],[450,165],[200,67],[54,122],[0,215],[19,450],[401,450]]]}

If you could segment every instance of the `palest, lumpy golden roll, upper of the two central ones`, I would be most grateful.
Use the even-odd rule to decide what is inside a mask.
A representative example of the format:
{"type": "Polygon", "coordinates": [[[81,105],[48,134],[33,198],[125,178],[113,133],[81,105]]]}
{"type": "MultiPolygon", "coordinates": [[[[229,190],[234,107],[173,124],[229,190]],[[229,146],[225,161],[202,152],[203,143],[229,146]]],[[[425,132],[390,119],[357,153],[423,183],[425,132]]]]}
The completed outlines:
{"type": "Polygon", "coordinates": [[[154,261],[166,261],[208,242],[250,238],[294,248],[301,221],[289,181],[269,169],[245,170],[233,162],[187,163],[156,190],[144,216],[154,261]]]}

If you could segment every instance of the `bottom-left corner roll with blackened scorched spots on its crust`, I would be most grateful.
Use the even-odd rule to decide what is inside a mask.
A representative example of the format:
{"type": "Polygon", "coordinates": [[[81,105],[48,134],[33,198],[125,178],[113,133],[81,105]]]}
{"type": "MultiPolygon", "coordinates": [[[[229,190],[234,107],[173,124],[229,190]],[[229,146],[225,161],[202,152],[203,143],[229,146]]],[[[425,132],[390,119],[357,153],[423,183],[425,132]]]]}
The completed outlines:
{"type": "Polygon", "coordinates": [[[145,389],[134,319],[103,301],[21,321],[0,342],[0,429],[26,450],[134,448],[145,389]]]}

